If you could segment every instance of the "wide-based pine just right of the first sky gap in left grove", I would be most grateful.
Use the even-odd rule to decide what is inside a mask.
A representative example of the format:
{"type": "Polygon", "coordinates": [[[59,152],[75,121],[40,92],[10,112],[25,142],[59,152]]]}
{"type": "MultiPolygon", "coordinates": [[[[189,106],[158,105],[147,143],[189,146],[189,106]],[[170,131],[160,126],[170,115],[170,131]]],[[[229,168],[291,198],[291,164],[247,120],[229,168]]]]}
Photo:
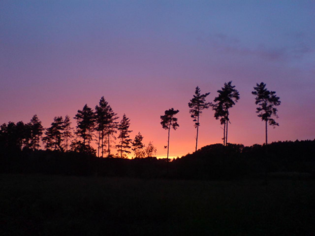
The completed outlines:
{"type": "Polygon", "coordinates": [[[53,147],[55,151],[64,151],[61,147],[61,142],[63,141],[63,131],[64,119],[62,116],[55,116],[51,126],[47,128],[47,131],[45,132],[46,137],[43,138],[43,142],[46,142],[46,149],[53,147]]]}

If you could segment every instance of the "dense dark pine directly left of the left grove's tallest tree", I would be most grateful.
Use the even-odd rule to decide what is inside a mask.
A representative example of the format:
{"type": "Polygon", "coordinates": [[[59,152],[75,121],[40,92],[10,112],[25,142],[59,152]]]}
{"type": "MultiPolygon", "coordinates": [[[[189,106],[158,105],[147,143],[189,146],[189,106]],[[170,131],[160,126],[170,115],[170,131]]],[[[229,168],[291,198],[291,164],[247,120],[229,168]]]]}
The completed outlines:
{"type": "Polygon", "coordinates": [[[78,110],[78,113],[74,117],[77,120],[77,131],[76,134],[83,139],[83,146],[90,147],[90,142],[92,140],[92,132],[95,124],[94,112],[86,104],[84,105],[82,111],[78,110]]]}

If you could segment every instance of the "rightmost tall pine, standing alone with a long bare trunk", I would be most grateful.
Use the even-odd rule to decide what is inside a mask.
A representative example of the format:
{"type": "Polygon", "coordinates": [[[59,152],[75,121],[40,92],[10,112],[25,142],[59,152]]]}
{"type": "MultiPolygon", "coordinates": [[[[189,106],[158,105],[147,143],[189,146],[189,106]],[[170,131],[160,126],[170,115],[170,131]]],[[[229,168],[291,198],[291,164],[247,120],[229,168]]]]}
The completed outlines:
{"type": "Polygon", "coordinates": [[[256,113],[258,113],[258,117],[262,118],[266,123],[266,145],[268,144],[268,135],[267,135],[267,127],[268,123],[272,126],[279,126],[277,122],[272,117],[278,118],[277,109],[275,106],[279,106],[281,104],[280,97],[275,95],[274,91],[269,91],[266,89],[266,84],[261,82],[260,84],[256,84],[257,87],[254,87],[253,95],[256,95],[256,105],[259,105],[256,108],[256,113]]]}

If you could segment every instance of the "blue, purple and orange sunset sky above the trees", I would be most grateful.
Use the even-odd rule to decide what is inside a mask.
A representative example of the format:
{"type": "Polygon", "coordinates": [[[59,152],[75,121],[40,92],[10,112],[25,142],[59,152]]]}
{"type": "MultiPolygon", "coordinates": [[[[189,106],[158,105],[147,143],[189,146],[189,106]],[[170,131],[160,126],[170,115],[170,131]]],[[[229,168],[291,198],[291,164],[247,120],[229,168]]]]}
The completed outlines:
{"type": "MultiPolygon", "coordinates": [[[[229,143],[263,144],[256,83],[281,105],[268,142],[315,139],[315,1],[0,1],[0,123],[44,127],[74,117],[102,96],[114,112],[166,156],[160,116],[179,110],[170,156],[192,153],[196,129],[188,102],[196,86],[224,83],[240,93],[230,109],[229,143]]],[[[211,109],[200,118],[198,148],[222,143],[211,109]]],[[[72,119],[75,127],[76,121],[72,119]]]]}

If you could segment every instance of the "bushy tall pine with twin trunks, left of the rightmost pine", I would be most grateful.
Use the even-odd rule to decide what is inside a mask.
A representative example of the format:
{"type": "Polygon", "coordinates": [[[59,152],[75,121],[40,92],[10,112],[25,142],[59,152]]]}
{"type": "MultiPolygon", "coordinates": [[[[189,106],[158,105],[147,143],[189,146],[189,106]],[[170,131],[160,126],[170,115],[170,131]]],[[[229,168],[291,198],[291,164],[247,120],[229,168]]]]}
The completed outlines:
{"type": "Polygon", "coordinates": [[[231,123],[229,119],[229,109],[232,108],[235,103],[238,102],[240,96],[239,92],[232,85],[232,81],[225,83],[222,90],[217,90],[218,96],[214,98],[216,104],[212,105],[212,109],[215,111],[215,119],[220,119],[220,123],[224,124],[223,144],[228,144],[228,124],[231,123]]]}

